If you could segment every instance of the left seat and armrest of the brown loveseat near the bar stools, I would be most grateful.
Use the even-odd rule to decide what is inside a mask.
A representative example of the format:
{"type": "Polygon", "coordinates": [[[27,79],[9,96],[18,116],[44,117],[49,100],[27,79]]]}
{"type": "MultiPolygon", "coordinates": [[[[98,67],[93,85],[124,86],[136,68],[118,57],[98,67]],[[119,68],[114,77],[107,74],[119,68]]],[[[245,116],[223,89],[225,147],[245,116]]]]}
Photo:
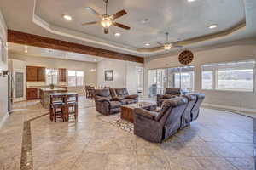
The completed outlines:
{"type": "Polygon", "coordinates": [[[102,115],[112,115],[121,111],[121,102],[110,95],[109,89],[95,90],[96,111],[102,115]]]}

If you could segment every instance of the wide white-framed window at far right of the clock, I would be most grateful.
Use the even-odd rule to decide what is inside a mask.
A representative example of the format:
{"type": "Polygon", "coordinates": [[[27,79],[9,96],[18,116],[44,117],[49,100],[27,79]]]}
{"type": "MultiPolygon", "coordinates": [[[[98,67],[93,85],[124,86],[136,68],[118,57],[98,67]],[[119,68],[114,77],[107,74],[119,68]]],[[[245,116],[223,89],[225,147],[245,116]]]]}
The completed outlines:
{"type": "Polygon", "coordinates": [[[253,91],[254,60],[202,65],[201,88],[253,91]]]}

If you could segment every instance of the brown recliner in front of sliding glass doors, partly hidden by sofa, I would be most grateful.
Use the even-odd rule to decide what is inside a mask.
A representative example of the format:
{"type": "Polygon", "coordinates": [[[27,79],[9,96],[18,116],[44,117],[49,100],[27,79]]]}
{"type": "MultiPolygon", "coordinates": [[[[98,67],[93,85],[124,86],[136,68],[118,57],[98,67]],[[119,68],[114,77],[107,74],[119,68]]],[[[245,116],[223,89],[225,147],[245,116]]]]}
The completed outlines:
{"type": "Polygon", "coordinates": [[[157,94],[157,98],[156,98],[156,102],[157,102],[157,106],[161,106],[162,103],[166,100],[166,99],[171,99],[171,98],[175,98],[177,96],[180,96],[182,94],[182,89],[181,88],[166,88],[166,92],[165,94],[157,94]]]}

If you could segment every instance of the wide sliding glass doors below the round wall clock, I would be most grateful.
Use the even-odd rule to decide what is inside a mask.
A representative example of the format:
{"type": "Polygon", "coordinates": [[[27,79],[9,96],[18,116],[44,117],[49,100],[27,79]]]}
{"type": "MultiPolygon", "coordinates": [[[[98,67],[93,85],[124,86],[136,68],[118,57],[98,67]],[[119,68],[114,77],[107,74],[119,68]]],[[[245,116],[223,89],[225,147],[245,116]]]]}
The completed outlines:
{"type": "Polygon", "coordinates": [[[165,88],[182,88],[186,92],[193,91],[194,72],[194,66],[149,70],[149,96],[163,94],[165,88]]]}

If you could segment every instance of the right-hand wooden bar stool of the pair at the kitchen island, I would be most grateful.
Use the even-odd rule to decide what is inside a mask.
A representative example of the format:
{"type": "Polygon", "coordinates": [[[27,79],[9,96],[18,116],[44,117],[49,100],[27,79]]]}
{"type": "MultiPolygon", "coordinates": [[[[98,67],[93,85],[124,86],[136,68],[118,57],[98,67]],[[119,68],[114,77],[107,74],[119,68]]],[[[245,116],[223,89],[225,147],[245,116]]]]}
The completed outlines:
{"type": "Polygon", "coordinates": [[[67,94],[67,121],[69,117],[73,117],[75,120],[78,118],[79,113],[79,95],[69,93],[67,94]]]}

